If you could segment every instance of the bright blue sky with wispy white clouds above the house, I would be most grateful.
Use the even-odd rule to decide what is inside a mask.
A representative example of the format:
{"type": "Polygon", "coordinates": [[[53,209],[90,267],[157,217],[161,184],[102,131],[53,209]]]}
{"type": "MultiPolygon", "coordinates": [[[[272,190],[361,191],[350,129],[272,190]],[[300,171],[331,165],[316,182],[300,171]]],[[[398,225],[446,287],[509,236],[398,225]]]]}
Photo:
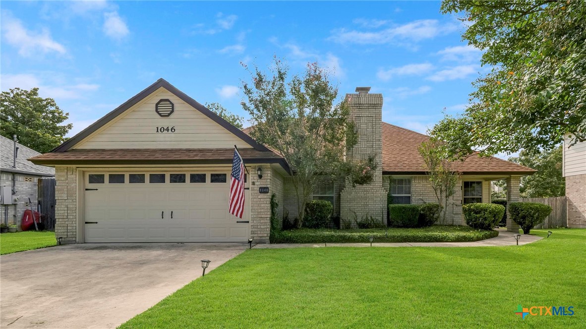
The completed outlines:
{"type": "Polygon", "coordinates": [[[69,134],[160,77],[202,104],[240,107],[240,62],[333,70],[341,94],[372,86],[383,120],[425,132],[461,111],[489,70],[440,2],[2,2],[2,90],[39,87],[69,134]]]}

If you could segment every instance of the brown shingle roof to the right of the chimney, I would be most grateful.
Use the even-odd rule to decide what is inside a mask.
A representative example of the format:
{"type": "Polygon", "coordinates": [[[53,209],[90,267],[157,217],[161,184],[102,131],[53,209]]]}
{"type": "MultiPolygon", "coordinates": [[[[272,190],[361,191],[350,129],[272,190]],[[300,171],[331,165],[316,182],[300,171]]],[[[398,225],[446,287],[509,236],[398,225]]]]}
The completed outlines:
{"type": "MultiPolygon", "coordinates": [[[[399,126],[383,122],[383,172],[384,173],[424,173],[425,163],[419,154],[421,142],[429,136],[399,126]]],[[[532,174],[536,170],[499,159],[498,157],[479,157],[472,155],[464,162],[456,163],[456,169],[463,173],[515,173],[532,174]]]]}

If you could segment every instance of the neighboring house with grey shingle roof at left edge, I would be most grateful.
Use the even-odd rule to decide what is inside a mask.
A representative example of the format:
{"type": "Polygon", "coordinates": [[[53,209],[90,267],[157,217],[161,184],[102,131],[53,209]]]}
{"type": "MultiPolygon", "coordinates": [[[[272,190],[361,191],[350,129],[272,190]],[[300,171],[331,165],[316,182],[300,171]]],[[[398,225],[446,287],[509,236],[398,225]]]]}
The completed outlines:
{"type": "Polygon", "coordinates": [[[52,167],[39,166],[30,162],[30,157],[40,153],[29,149],[14,140],[0,136],[0,186],[2,186],[2,205],[0,205],[0,222],[21,226],[22,215],[30,209],[29,198],[33,209],[37,205],[37,184],[41,177],[55,176],[52,167]],[[14,149],[18,148],[16,152],[14,149]],[[8,222],[8,223],[6,223],[8,222]]]}

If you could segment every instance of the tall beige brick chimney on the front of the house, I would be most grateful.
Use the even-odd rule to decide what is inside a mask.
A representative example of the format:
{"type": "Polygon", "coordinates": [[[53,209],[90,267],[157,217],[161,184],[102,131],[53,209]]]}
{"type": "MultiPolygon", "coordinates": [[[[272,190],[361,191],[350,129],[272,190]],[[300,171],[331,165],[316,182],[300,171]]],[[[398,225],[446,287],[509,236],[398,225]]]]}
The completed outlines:
{"type": "MultiPolygon", "coordinates": [[[[347,157],[353,160],[376,157],[379,165],[370,184],[352,187],[346,183],[340,193],[340,220],[352,222],[373,217],[386,223],[387,193],[383,187],[382,159],[382,94],[347,94],[351,118],[356,123],[359,141],[347,157]]],[[[354,224],[355,225],[355,224],[354,224]]]]}

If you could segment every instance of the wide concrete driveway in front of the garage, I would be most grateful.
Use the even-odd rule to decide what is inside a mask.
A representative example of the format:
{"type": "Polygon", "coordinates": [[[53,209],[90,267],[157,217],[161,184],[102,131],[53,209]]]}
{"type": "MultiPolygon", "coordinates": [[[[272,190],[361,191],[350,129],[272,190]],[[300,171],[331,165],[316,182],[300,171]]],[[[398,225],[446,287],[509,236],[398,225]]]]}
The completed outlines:
{"type": "Polygon", "coordinates": [[[2,328],[115,328],[247,244],[80,244],[0,256],[2,328]]]}

